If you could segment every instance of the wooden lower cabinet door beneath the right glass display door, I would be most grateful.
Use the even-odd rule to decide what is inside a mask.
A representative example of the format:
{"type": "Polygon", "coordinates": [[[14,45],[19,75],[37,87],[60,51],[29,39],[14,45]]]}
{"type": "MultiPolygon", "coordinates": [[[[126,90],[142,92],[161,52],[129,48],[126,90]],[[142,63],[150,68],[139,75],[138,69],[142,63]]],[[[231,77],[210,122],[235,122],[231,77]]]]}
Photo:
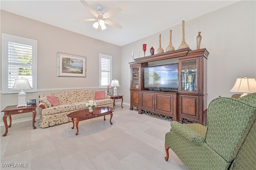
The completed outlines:
{"type": "Polygon", "coordinates": [[[192,119],[199,122],[199,96],[179,95],[179,120],[192,119]]]}

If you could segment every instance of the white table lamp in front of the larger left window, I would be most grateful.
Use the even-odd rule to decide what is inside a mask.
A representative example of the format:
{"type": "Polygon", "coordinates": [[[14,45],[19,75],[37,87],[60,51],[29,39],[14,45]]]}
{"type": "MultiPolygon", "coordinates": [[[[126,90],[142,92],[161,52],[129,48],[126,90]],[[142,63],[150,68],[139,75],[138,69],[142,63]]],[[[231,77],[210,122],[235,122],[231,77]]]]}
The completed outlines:
{"type": "Polygon", "coordinates": [[[18,94],[18,106],[26,107],[26,93],[23,90],[32,89],[28,79],[15,79],[11,90],[21,90],[18,94]]]}

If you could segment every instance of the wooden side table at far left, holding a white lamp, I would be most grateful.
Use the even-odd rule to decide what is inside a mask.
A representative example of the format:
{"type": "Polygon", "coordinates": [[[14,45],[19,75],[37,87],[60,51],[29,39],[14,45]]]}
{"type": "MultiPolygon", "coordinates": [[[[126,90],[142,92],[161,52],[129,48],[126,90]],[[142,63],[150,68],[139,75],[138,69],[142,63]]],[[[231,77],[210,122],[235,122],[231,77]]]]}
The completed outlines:
{"type": "Polygon", "coordinates": [[[4,126],[5,126],[5,133],[3,134],[3,136],[6,136],[6,134],[8,133],[8,127],[12,126],[11,115],[32,112],[33,113],[32,127],[33,127],[33,129],[36,129],[36,127],[35,127],[36,107],[37,107],[36,104],[28,105],[27,107],[17,107],[17,105],[6,106],[6,108],[4,108],[4,110],[1,111],[1,112],[4,112],[3,121],[4,121],[4,126]],[[9,126],[7,125],[7,121],[6,121],[7,116],[9,117],[9,121],[10,121],[9,126]]]}

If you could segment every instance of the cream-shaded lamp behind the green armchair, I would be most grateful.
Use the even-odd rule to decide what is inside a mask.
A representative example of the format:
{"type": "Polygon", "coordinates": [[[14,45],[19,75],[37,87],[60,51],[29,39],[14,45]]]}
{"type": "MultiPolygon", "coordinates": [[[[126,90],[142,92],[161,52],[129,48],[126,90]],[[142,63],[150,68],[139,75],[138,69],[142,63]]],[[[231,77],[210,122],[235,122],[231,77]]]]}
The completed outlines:
{"type": "Polygon", "coordinates": [[[256,79],[255,78],[237,78],[236,83],[231,92],[243,93],[240,97],[248,95],[248,93],[256,92],[256,79]]]}

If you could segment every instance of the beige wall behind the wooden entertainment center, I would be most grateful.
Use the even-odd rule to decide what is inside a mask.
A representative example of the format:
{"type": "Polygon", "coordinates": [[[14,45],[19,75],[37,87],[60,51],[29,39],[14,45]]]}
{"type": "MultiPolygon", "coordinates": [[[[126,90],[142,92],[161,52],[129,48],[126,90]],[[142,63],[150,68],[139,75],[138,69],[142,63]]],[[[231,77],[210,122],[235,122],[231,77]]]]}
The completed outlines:
{"type": "MultiPolygon", "coordinates": [[[[240,1],[220,10],[185,21],[185,40],[190,49],[196,49],[196,36],[202,32],[201,48],[209,51],[207,61],[207,105],[218,96],[230,97],[237,77],[256,77],[256,3],[240,1]]],[[[172,16],[170,16],[172,17],[172,16]]],[[[175,17],[175,16],[174,16],[175,17]]],[[[168,22],[168,18],[166,18],[168,22]]],[[[182,21],[180,21],[182,23],[182,21]]],[[[162,48],[169,44],[169,30],[172,30],[172,45],[178,49],[182,40],[182,26],[174,26],[158,34],[124,45],[121,48],[121,93],[124,100],[130,101],[130,67],[132,48],[134,58],[144,56],[142,44],[147,44],[146,56],[150,47],[158,48],[158,35],[161,34],[162,48]]]]}

